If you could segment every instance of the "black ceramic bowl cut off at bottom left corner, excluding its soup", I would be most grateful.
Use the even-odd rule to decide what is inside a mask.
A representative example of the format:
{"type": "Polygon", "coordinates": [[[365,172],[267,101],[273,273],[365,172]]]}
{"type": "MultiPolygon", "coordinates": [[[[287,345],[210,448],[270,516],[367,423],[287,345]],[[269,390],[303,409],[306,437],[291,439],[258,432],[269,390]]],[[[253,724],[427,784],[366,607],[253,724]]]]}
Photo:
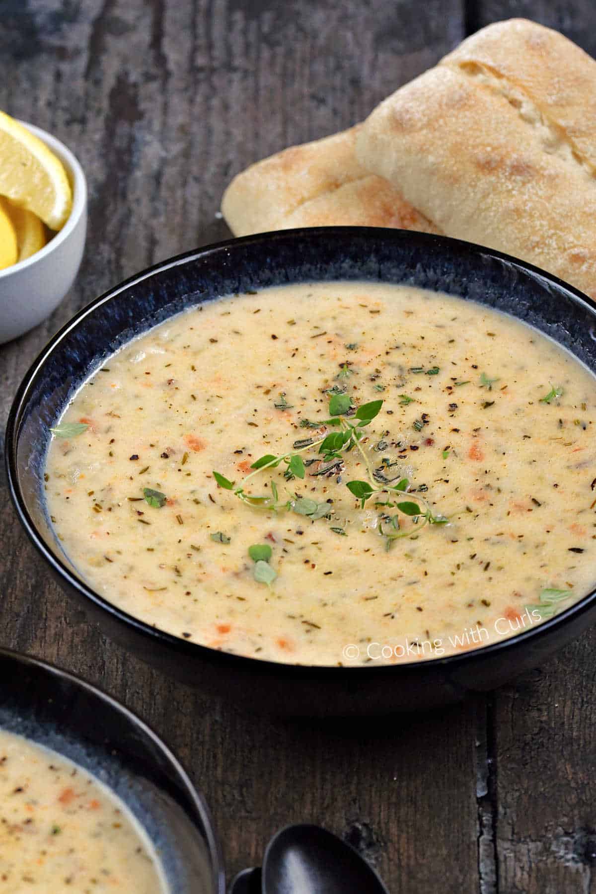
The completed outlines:
{"type": "Polygon", "coordinates": [[[112,789],[147,831],[172,894],[223,894],[206,805],[172,752],[122,704],[0,649],[0,728],[53,748],[112,789]]]}

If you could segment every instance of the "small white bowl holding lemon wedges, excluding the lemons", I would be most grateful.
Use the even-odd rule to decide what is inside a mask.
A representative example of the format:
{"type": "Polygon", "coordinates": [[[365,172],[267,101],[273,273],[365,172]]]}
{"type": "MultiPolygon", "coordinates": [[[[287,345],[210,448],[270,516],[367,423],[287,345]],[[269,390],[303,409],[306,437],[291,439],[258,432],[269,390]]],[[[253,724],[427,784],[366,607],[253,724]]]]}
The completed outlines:
{"type": "Polygon", "coordinates": [[[72,210],[43,249],[0,270],[0,344],[37,326],[60,304],[79,271],[87,235],[87,181],[79,162],[59,139],[20,123],[63,163],[71,181],[72,210]]]}

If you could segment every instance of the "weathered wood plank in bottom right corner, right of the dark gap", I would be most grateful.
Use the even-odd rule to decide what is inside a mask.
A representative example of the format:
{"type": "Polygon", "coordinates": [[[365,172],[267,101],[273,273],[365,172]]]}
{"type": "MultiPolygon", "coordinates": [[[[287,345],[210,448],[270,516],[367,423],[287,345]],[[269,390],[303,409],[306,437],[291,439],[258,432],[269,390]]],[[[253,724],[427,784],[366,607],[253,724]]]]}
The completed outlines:
{"type": "Polygon", "coordinates": [[[494,696],[499,890],[596,891],[591,631],[494,696]]]}

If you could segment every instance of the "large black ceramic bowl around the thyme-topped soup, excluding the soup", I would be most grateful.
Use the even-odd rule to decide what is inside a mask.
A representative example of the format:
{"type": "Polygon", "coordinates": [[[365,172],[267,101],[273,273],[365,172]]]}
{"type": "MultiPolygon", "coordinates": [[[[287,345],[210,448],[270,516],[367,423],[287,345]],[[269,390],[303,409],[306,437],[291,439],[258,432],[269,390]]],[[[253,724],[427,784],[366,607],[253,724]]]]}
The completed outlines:
{"type": "Polygon", "coordinates": [[[214,651],[115,608],[82,580],[49,525],[47,429],[72,389],[136,333],[233,292],[313,280],[410,283],[508,311],[596,369],[596,307],[580,292],[499,252],[441,236],[338,227],[230,240],[155,266],[107,292],[55,335],[17,393],[6,432],[22,524],[75,600],[125,648],[172,675],[273,712],[341,715],[429,707],[532,668],[596,619],[594,593],[553,620],[466,654],[391,667],[301,667],[214,651]]]}

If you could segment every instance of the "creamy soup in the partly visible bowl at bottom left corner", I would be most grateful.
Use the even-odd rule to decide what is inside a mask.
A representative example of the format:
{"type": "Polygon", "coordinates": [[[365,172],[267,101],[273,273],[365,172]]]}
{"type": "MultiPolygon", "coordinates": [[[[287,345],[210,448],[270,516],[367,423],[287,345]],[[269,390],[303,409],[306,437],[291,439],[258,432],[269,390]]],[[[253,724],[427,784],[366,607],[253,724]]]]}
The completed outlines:
{"type": "Polygon", "coordinates": [[[0,891],[166,891],[122,801],[77,764],[5,730],[0,803],[0,891]]]}

